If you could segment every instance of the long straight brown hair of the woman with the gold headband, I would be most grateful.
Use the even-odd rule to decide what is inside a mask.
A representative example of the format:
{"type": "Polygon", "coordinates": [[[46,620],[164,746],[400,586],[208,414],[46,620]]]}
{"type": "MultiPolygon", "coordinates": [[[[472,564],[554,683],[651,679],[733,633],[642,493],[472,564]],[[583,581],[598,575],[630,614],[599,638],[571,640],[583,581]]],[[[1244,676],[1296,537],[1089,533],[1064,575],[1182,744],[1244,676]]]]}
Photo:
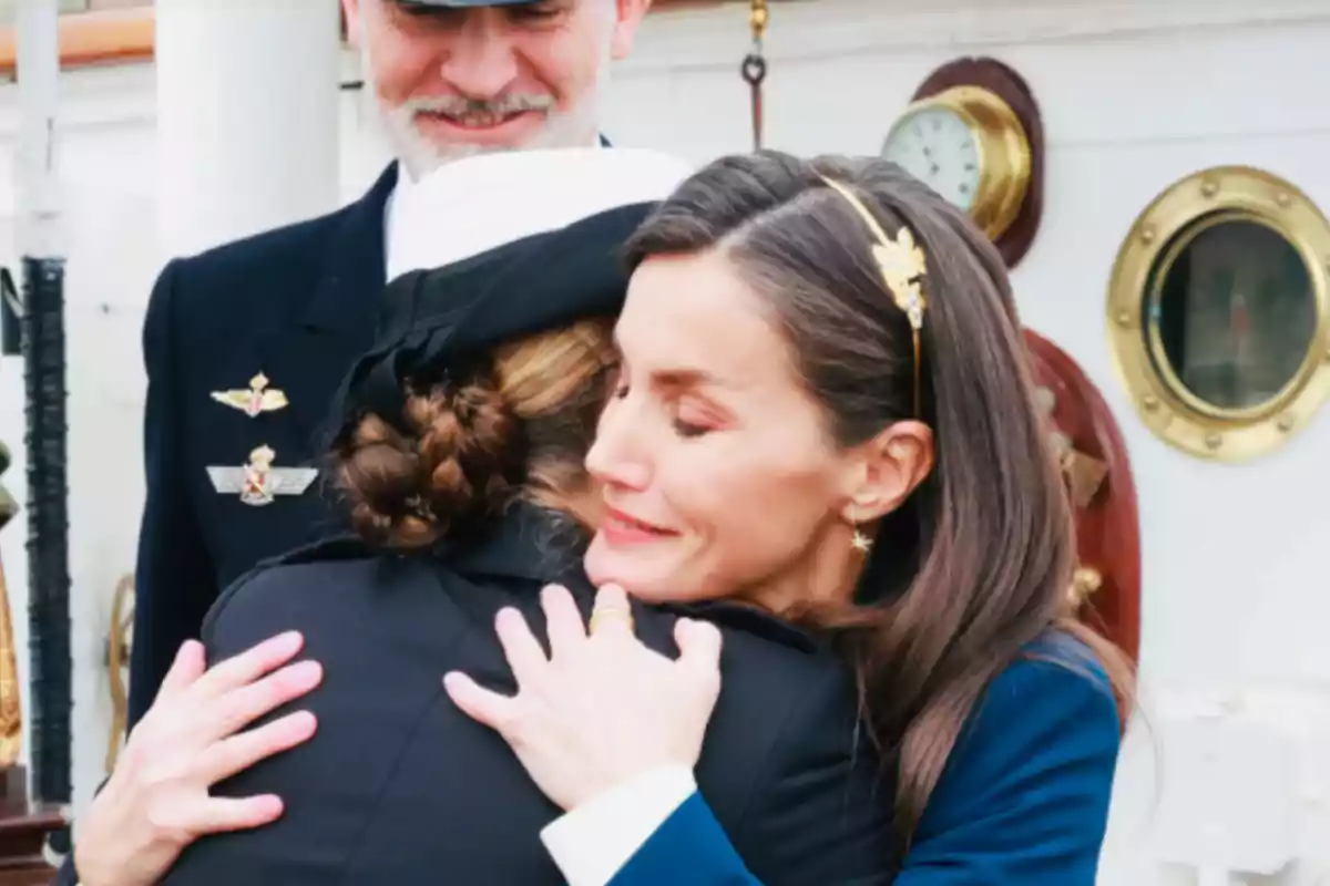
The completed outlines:
{"type": "Polygon", "coordinates": [[[935,468],[880,522],[854,606],[818,614],[847,650],[871,733],[896,764],[903,853],[984,688],[1039,638],[1060,628],[1083,640],[1083,660],[1057,658],[1107,672],[1124,721],[1130,695],[1124,656],[1068,611],[1072,517],[1005,267],[968,218],[898,166],[775,151],[700,170],[638,228],[628,256],[636,267],[713,248],[765,298],[837,444],[904,418],[934,430],[935,468]],[[847,185],[890,235],[907,226],[927,255],[923,414],[908,320],[883,288],[863,219],[826,178],[847,185]]]}

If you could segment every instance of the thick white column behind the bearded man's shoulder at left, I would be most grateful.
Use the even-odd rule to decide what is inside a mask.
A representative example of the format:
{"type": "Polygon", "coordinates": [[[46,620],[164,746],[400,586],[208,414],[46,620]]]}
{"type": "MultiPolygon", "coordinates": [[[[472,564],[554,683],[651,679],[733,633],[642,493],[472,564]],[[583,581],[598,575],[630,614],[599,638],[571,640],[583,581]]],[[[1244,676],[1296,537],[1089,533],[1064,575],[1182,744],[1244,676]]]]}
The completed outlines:
{"type": "Polygon", "coordinates": [[[336,0],[157,0],[156,13],[165,255],[335,209],[336,0]]]}

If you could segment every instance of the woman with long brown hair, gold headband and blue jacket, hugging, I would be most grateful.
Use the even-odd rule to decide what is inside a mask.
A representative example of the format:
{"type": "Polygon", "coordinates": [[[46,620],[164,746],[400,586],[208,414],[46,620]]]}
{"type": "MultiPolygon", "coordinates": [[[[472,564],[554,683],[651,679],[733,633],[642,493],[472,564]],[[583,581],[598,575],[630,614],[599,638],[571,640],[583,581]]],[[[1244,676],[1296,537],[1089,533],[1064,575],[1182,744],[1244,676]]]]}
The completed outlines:
{"type": "MultiPolygon", "coordinates": [[[[839,648],[888,761],[899,882],[1092,883],[1132,677],[1067,606],[1071,514],[995,250],[890,163],[766,153],[697,173],[628,256],[587,460],[605,506],[591,579],[742,599],[839,648]]],[[[658,656],[551,604],[563,660],[523,662],[501,622],[519,695],[462,675],[450,691],[543,785],[604,782],[606,736],[620,757],[642,747],[638,788],[621,772],[626,789],[548,832],[565,871],[626,859],[661,824],[616,885],[747,882],[686,801],[690,761],[634,723],[658,656]]],[[[714,699],[704,676],[696,697],[714,699]]]]}

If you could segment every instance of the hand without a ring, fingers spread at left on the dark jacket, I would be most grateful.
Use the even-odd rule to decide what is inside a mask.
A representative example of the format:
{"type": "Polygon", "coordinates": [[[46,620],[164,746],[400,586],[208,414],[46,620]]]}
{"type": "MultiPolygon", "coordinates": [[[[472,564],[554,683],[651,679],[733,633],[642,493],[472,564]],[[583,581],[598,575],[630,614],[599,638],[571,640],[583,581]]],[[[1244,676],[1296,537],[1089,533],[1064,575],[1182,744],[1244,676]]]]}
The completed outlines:
{"type": "Polygon", "coordinates": [[[209,788],[314,735],[306,711],[241,732],[318,685],[318,663],[282,667],[302,646],[299,634],[282,634],[211,669],[200,643],[181,647],[82,821],[74,847],[82,886],[149,886],[198,837],[282,814],[278,797],[211,797],[209,788]]]}

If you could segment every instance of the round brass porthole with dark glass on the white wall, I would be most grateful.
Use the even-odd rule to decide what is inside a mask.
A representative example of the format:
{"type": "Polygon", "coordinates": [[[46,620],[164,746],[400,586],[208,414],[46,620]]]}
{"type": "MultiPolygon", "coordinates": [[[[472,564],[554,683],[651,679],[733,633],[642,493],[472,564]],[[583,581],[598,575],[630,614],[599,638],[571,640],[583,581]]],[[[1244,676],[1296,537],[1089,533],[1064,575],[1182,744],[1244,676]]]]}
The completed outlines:
{"type": "Polygon", "coordinates": [[[1330,222],[1262,170],[1210,169],[1140,215],[1108,292],[1146,426],[1202,458],[1264,456],[1330,400],[1330,222]]]}

